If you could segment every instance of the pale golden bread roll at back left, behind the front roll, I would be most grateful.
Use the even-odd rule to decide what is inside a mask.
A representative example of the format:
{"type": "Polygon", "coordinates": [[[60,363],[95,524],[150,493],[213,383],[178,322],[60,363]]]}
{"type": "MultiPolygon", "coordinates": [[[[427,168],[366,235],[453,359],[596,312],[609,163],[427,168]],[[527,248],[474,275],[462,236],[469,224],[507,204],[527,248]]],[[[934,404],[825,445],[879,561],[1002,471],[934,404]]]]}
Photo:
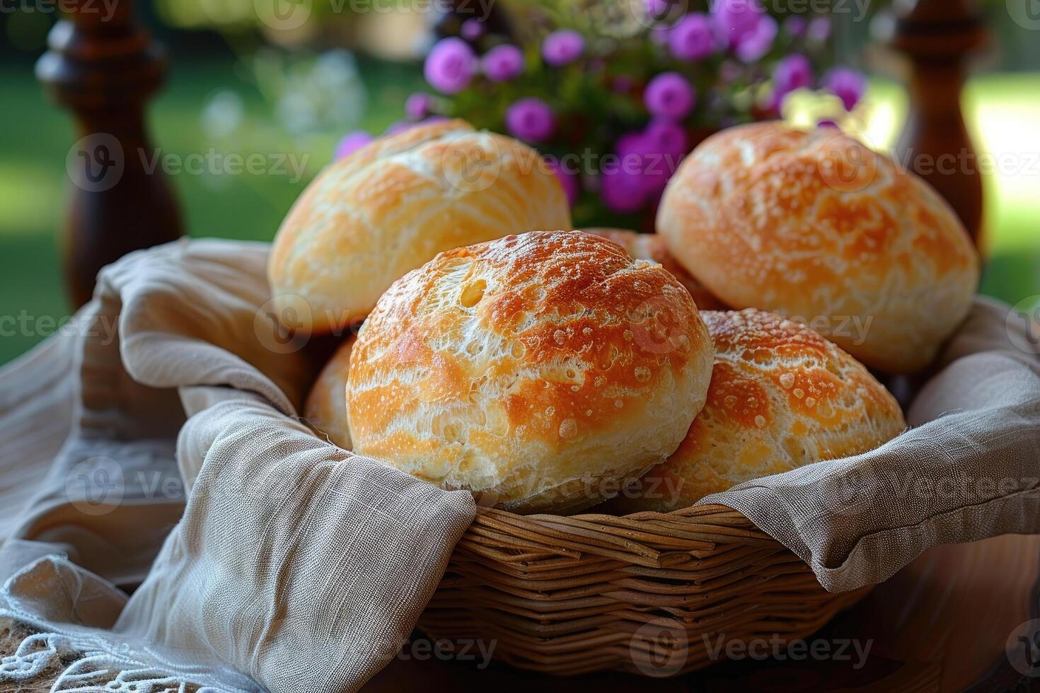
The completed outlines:
{"type": "Polygon", "coordinates": [[[464,121],[416,126],[333,163],[292,206],[267,265],[276,312],[301,297],[313,331],[335,330],[441,250],[570,223],[535,150],[464,121]]]}

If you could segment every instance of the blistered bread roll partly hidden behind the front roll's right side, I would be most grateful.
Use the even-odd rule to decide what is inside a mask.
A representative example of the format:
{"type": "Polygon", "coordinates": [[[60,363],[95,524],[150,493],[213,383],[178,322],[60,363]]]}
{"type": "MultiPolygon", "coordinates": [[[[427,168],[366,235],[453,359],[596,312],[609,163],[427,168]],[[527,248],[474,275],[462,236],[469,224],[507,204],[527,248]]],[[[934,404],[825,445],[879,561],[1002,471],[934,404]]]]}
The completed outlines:
{"type": "Polygon", "coordinates": [[[872,450],[906,428],[855,358],[808,327],[754,309],[701,313],[714,342],[707,403],[667,462],[619,502],[684,508],[708,494],[872,450]]]}

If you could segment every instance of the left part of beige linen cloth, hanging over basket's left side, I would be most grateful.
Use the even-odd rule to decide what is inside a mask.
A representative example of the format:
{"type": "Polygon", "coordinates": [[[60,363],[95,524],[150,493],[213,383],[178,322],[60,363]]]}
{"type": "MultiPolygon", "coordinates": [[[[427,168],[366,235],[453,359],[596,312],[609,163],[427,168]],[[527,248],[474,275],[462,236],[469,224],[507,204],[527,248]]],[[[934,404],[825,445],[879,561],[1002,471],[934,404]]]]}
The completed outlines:
{"type": "Polygon", "coordinates": [[[0,374],[0,470],[20,475],[0,488],[37,480],[19,522],[4,512],[0,615],[43,632],[0,681],[75,652],[62,676],[105,690],[350,691],[411,633],[472,497],[297,420],[313,367],[270,339],[266,255],[182,241],[128,256],[74,337],[0,374]],[[34,427],[69,431],[53,461],[9,454],[34,427]],[[140,580],[129,599],[114,586],[140,580]]]}

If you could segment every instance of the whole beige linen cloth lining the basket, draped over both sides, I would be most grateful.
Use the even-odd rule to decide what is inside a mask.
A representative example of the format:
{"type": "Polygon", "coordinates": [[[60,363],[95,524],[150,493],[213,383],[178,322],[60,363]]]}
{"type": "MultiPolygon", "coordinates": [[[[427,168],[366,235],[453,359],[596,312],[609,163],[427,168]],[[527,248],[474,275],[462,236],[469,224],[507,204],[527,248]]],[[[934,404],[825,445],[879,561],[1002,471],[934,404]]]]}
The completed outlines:
{"type": "MultiPolygon", "coordinates": [[[[55,690],[350,691],[414,625],[473,501],[301,423],[320,364],[265,311],[266,254],[128,256],[0,371],[0,617],[41,631],[0,682],[63,657],[55,690]]],[[[936,543],[1040,531],[1040,362],[1011,318],[976,302],[895,441],[702,502],[834,591],[936,543]]]]}

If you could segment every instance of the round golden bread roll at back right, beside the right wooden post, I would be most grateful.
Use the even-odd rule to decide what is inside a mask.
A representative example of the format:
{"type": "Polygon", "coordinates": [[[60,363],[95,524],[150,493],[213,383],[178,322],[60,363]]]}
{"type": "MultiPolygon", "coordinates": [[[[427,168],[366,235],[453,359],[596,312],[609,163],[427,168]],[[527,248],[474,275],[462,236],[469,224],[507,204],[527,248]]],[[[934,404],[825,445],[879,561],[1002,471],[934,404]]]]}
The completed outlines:
{"type": "Polygon", "coordinates": [[[932,361],[979,282],[938,193],[832,128],[712,135],[669,182],[657,232],[727,304],[803,321],[889,372],[932,361]]]}

